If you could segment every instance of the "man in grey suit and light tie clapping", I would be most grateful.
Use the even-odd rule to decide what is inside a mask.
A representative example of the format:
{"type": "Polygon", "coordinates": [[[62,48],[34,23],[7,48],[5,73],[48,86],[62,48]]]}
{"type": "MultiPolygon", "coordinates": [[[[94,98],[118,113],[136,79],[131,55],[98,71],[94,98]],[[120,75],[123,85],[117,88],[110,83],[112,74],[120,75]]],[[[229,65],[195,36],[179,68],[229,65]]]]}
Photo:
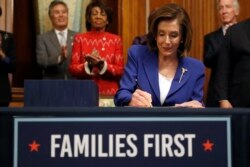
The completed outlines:
{"type": "Polygon", "coordinates": [[[68,66],[76,32],[67,28],[68,6],[63,1],[52,1],[48,14],[53,29],[37,37],[37,63],[43,70],[43,79],[72,79],[68,66]]]}

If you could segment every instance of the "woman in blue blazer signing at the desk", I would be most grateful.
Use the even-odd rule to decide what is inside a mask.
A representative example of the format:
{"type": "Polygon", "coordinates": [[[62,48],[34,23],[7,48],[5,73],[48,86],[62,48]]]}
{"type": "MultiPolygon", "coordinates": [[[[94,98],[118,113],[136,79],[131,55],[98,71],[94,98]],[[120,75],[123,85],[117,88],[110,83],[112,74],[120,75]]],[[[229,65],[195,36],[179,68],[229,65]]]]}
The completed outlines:
{"type": "Polygon", "coordinates": [[[203,107],[205,67],[188,57],[192,28],[177,4],[158,8],[148,19],[148,46],[132,45],[114,102],[116,106],[203,107]]]}

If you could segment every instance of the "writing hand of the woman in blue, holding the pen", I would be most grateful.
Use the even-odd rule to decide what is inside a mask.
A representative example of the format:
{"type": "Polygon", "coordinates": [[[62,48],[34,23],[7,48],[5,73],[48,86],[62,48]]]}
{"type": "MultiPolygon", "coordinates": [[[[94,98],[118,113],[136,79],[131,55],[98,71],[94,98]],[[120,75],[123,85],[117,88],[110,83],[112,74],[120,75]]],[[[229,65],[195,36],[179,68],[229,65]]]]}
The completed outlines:
{"type": "Polygon", "coordinates": [[[132,94],[132,99],[128,105],[132,107],[152,107],[151,94],[140,89],[136,89],[132,94]]]}

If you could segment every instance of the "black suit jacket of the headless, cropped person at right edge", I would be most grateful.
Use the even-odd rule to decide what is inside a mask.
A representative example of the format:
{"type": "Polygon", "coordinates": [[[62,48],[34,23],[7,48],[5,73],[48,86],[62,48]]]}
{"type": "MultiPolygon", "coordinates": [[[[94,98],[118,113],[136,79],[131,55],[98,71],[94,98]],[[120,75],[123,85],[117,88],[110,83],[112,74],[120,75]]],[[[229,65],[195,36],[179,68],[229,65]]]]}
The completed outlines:
{"type": "Polygon", "coordinates": [[[218,59],[216,90],[219,99],[234,107],[250,107],[250,19],[227,31],[218,59]]]}

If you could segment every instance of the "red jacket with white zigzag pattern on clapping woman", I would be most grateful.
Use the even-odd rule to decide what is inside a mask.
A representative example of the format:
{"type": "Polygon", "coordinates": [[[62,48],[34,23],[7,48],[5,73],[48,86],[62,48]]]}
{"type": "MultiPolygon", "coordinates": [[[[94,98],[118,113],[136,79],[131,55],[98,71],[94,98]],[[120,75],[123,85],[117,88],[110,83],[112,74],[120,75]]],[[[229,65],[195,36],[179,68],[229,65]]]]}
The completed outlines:
{"type": "Polygon", "coordinates": [[[108,32],[86,32],[74,37],[70,73],[78,79],[92,79],[99,87],[100,95],[114,95],[123,74],[124,60],[121,38],[108,32]],[[85,55],[93,49],[107,63],[104,74],[90,75],[85,70],[85,55]]]}

